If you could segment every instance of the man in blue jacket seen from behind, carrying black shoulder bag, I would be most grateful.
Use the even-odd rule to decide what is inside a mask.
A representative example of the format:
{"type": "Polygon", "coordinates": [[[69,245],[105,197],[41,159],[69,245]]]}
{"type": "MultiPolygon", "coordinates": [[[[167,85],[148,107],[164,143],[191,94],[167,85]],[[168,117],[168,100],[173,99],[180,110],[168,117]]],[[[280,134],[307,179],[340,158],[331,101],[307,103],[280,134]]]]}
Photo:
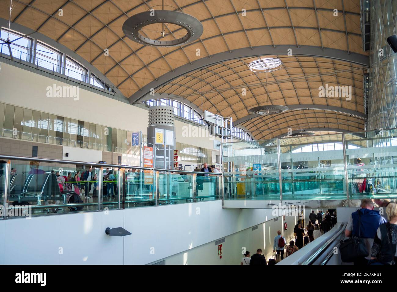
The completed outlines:
{"type": "Polygon", "coordinates": [[[353,212],[347,223],[345,236],[356,236],[364,238],[365,246],[368,250],[368,256],[358,258],[354,261],[355,265],[367,265],[371,259],[371,248],[379,225],[386,223],[386,219],[374,210],[374,203],[370,199],[364,199],[361,202],[361,209],[353,212]],[[361,225],[359,224],[361,220],[361,225]]]}

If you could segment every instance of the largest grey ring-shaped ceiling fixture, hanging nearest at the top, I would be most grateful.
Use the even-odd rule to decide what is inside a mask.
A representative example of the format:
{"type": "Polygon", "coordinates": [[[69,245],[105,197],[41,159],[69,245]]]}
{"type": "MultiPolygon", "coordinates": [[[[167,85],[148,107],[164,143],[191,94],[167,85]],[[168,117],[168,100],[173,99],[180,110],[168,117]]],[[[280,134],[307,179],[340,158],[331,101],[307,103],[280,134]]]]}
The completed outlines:
{"type": "Polygon", "coordinates": [[[123,32],[139,44],[170,47],[197,40],[203,26],[189,14],[152,8],[129,17],[123,24],[123,32]]]}

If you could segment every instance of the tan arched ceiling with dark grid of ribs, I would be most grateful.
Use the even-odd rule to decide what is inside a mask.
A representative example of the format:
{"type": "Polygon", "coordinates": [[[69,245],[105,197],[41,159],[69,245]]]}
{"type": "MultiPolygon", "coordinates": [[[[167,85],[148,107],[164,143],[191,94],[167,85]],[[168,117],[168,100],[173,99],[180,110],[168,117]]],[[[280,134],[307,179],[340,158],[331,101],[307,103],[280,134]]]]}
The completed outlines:
{"type": "MultiPolygon", "coordinates": [[[[0,0],[4,19],[9,17],[9,3],[0,0]]],[[[13,0],[13,4],[14,23],[73,50],[131,102],[152,87],[233,120],[265,104],[316,104],[364,113],[362,67],[368,65],[368,54],[362,51],[359,0],[164,0],[204,27],[197,41],[168,48],[143,46],[122,31],[128,17],[161,5],[161,0],[13,0]],[[272,50],[262,52],[266,46],[272,50]],[[109,56],[104,54],[106,48],[109,56]],[[287,56],[287,48],[292,56],[287,56]],[[269,54],[282,60],[281,69],[267,76],[248,69],[247,63],[269,54]],[[319,98],[318,87],[325,84],[352,86],[351,100],[319,98]]],[[[274,129],[272,135],[278,136],[286,126],[296,130],[303,124],[364,129],[364,119],[348,114],[321,109],[305,114],[301,118],[299,111],[287,111],[242,125],[255,131],[258,139],[274,129]]]]}

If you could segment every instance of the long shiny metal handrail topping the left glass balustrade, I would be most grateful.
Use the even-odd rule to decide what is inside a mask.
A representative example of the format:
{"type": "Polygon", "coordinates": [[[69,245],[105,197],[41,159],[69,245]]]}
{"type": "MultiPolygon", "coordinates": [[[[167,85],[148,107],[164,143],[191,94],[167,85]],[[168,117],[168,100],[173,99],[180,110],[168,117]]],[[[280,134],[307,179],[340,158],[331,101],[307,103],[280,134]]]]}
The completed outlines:
{"type": "MultiPolygon", "coordinates": [[[[178,169],[164,169],[164,168],[150,168],[150,167],[142,167],[135,165],[121,165],[121,164],[105,164],[105,163],[97,163],[97,162],[89,162],[89,161],[72,161],[72,160],[59,160],[59,159],[48,159],[48,158],[37,158],[37,157],[23,157],[23,156],[12,156],[12,155],[0,155],[0,159],[4,160],[21,160],[21,161],[39,161],[39,162],[52,162],[52,163],[62,163],[62,164],[83,164],[83,165],[91,165],[96,167],[113,167],[113,168],[134,168],[141,170],[149,170],[149,171],[163,171],[163,172],[173,172],[173,173],[200,173],[200,171],[183,171],[178,169]]],[[[222,175],[222,173],[206,173],[209,175],[222,175]]]]}

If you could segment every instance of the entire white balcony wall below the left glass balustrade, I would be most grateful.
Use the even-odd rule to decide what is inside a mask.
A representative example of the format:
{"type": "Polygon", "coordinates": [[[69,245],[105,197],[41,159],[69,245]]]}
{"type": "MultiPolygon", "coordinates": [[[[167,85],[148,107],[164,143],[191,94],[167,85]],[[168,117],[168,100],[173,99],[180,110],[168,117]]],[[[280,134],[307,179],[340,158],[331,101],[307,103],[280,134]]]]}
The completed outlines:
{"type": "MultiPolygon", "coordinates": [[[[279,217],[272,211],[222,209],[218,200],[114,210],[109,215],[90,212],[0,220],[0,264],[147,264],[205,244],[215,246],[215,240],[249,229],[225,242],[229,255],[219,263],[235,263],[242,246],[271,252],[277,230],[283,230],[281,219],[272,221],[279,217]],[[269,222],[258,226],[258,232],[249,232],[265,221],[269,222]],[[132,235],[107,236],[106,227],[124,227],[132,235]]],[[[295,218],[286,216],[286,220],[288,238],[293,230],[289,222],[295,218]]],[[[204,259],[200,251],[197,259],[200,254],[204,259]]]]}

